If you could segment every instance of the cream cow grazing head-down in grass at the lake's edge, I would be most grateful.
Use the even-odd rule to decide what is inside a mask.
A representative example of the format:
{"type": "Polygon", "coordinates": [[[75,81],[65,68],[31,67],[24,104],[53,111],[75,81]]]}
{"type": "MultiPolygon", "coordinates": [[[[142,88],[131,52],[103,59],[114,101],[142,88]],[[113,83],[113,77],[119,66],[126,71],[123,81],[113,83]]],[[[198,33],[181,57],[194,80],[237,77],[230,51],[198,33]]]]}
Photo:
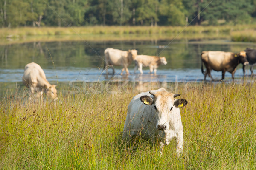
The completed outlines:
{"type": "Polygon", "coordinates": [[[51,85],[47,81],[43,69],[35,62],[25,66],[22,82],[29,88],[31,94],[38,93],[38,95],[42,95],[44,91],[45,94],[53,99],[58,99],[56,85],[51,85]]]}

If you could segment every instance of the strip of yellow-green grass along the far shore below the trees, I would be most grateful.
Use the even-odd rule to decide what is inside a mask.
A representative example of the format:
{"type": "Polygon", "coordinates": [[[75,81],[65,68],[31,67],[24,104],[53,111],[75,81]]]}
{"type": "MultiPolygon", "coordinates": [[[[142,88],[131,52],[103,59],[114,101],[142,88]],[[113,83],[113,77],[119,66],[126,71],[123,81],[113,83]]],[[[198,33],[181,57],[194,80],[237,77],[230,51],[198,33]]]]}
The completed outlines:
{"type": "MultiPolygon", "coordinates": [[[[1,28],[1,44],[32,41],[63,40],[150,40],[230,38],[233,32],[243,33],[256,29],[255,25],[237,26],[88,26],[88,27],[22,27],[1,28]]],[[[236,39],[232,39],[235,40],[236,39]]]]}

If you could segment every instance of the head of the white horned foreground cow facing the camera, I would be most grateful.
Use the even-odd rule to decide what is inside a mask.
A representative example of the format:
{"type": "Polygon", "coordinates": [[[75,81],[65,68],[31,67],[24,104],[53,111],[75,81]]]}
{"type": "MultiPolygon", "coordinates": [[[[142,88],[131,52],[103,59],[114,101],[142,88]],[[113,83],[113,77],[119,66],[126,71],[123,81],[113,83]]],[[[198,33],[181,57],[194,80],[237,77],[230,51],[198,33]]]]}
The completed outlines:
{"type": "Polygon", "coordinates": [[[149,93],[153,96],[141,96],[140,101],[151,106],[155,111],[157,120],[155,128],[157,130],[169,129],[172,117],[179,114],[179,108],[188,102],[185,99],[175,99],[180,94],[169,93],[164,88],[161,88],[160,91],[149,91],[149,93]]]}

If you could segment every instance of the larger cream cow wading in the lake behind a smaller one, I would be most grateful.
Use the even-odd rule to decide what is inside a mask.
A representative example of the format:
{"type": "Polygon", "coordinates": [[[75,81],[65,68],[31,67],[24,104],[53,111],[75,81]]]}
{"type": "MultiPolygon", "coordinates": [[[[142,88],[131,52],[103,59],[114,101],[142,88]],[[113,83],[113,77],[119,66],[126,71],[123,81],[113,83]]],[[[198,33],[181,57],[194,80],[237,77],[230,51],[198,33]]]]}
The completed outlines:
{"type": "MultiPolygon", "coordinates": [[[[118,49],[113,49],[113,48],[106,48],[104,51],[105,54],[105,65],[104,68],[108,65],[116,65],[120,66],[122,65],[122,72],[126,71],[126,74],[129,74],[128,71],[128,66],[131,64],[131,62],[135,59],[137,56],[137,50],[128,50],[128,51],[122,51],[118,49]]],[[[113,69],[113,74],[115,73],[114,68],[113,69]]],[[[108,74],[108,68],[106,68],[106,73],[108,74]]]]}

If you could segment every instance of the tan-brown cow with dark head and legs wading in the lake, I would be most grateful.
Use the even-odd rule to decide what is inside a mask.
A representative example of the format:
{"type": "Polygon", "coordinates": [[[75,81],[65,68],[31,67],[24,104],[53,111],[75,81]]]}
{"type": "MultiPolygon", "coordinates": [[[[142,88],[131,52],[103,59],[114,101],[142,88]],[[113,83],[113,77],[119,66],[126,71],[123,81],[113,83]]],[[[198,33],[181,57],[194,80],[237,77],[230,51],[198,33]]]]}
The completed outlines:
{"type": "Polygon", "coordinates": [[[225,77],[225,72],[228,71],[232,74],[232,79],[234,81],[234,74],[236,72],[236,66],[239,63],[247,65],[248,61],[244,51],[241,51],[238,54],[232,52],[223,52],[223,51],[203,51],[201,54],[202,64],[201,71],[204,74],[204,80],[206,79],[207,74],[211,78],[211,70],[222,71],[222,78],[225,77]],[[203,62],[206,67],[206,71],[203,69],[203,62]]]}

